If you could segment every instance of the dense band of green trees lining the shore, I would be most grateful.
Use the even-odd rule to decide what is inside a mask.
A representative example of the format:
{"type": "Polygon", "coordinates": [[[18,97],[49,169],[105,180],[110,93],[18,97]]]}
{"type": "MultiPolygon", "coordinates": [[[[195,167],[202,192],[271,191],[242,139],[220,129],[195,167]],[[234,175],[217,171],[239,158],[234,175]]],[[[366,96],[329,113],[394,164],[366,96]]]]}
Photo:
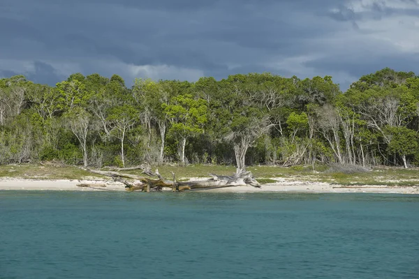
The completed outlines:
{"type": "Polygon", "coordinates": [[[197,82],[70,75],[0,79],[0,165],[419,165],[419,77],[384,68],[342,92],[332,77],[197,82]]]}

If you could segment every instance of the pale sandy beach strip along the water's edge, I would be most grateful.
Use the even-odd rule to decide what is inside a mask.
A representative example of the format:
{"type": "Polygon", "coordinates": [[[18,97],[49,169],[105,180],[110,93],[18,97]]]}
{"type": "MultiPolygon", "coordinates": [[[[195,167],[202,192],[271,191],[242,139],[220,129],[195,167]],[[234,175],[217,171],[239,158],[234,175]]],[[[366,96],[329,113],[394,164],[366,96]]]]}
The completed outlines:
{"type": "MultiPolygon", "coordinates": [[[[0,190],[61,190],[61,191],[116,191],[125,192],[122,183],[105,179],[0,179],[0,190]],[[78,184],[98,184],[97,187],[79,187],[78,184]]],[[[419,195],[419,187],[415,186],[342,186],[337,184],[309,181],[277,181],[263,184],[262,188],[251,186],[235,186],[205,190],[210,193],[388,193],[419,195]]]]}

